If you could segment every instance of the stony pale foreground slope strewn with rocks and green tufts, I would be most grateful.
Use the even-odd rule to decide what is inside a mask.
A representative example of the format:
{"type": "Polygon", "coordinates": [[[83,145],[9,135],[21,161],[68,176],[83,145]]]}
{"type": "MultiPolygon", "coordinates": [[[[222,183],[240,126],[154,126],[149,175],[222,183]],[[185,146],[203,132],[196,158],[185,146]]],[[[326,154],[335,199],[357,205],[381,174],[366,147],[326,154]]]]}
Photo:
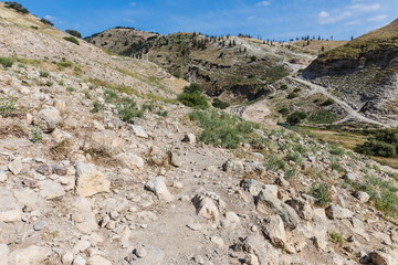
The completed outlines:
{"type": "Polygon", "coordinates": [[[397,264],[397,171],[0,17],[1,265],[397,264]]]}

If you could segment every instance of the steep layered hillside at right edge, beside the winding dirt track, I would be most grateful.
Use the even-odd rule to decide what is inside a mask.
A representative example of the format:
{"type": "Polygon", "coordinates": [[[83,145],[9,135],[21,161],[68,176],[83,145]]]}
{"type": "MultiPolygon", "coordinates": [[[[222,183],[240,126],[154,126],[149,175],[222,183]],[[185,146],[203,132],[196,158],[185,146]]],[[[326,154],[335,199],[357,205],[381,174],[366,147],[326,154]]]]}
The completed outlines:
{"type": "Polygon", "coordinates": [[[318,56],[303,76],[366,116],[398,126],[398,20],[318,56]]]}

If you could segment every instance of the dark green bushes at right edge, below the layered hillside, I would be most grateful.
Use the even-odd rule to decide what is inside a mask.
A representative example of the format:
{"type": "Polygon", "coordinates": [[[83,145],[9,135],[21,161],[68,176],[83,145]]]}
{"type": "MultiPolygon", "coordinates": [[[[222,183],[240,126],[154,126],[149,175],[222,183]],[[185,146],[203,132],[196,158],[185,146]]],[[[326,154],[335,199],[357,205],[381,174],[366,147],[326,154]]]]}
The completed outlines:
{"type": "Polygon", "coordinates": [[[368,140],[355,148],[355,151],[386,158],[398,156],[398,129],[381,129],[370,132],[368,140]]]}

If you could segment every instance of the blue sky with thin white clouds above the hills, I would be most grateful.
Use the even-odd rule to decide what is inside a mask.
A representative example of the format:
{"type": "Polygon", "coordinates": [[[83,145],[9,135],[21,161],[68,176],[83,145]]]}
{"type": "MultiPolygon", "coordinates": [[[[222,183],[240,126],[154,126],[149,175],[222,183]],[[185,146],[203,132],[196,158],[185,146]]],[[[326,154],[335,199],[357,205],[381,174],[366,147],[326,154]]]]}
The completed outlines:
{"type": "Polygon", "coordinates": [[[33,14],[83,35],[116,26],[161,34],[250,33],[270,40],[303,35],[346,40],[398,18],[398,0],[20,0],[33,14]]]}

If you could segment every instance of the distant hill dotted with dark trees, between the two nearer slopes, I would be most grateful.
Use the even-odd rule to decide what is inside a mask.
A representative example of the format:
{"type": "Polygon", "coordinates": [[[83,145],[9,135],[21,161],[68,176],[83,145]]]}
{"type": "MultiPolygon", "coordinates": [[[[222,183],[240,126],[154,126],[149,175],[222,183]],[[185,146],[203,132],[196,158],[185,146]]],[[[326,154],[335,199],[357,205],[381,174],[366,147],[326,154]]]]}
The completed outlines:
{"type": "Polygon", "coordinates": [[[159,35],[116,28],[86,40],[114,53],[149,60],[175,76],[202,84],[208,95],[232,102],[270,94],[272,85],[291,72],[284,61],[311,59],[281,45],[238,36],[159,35]]]}

